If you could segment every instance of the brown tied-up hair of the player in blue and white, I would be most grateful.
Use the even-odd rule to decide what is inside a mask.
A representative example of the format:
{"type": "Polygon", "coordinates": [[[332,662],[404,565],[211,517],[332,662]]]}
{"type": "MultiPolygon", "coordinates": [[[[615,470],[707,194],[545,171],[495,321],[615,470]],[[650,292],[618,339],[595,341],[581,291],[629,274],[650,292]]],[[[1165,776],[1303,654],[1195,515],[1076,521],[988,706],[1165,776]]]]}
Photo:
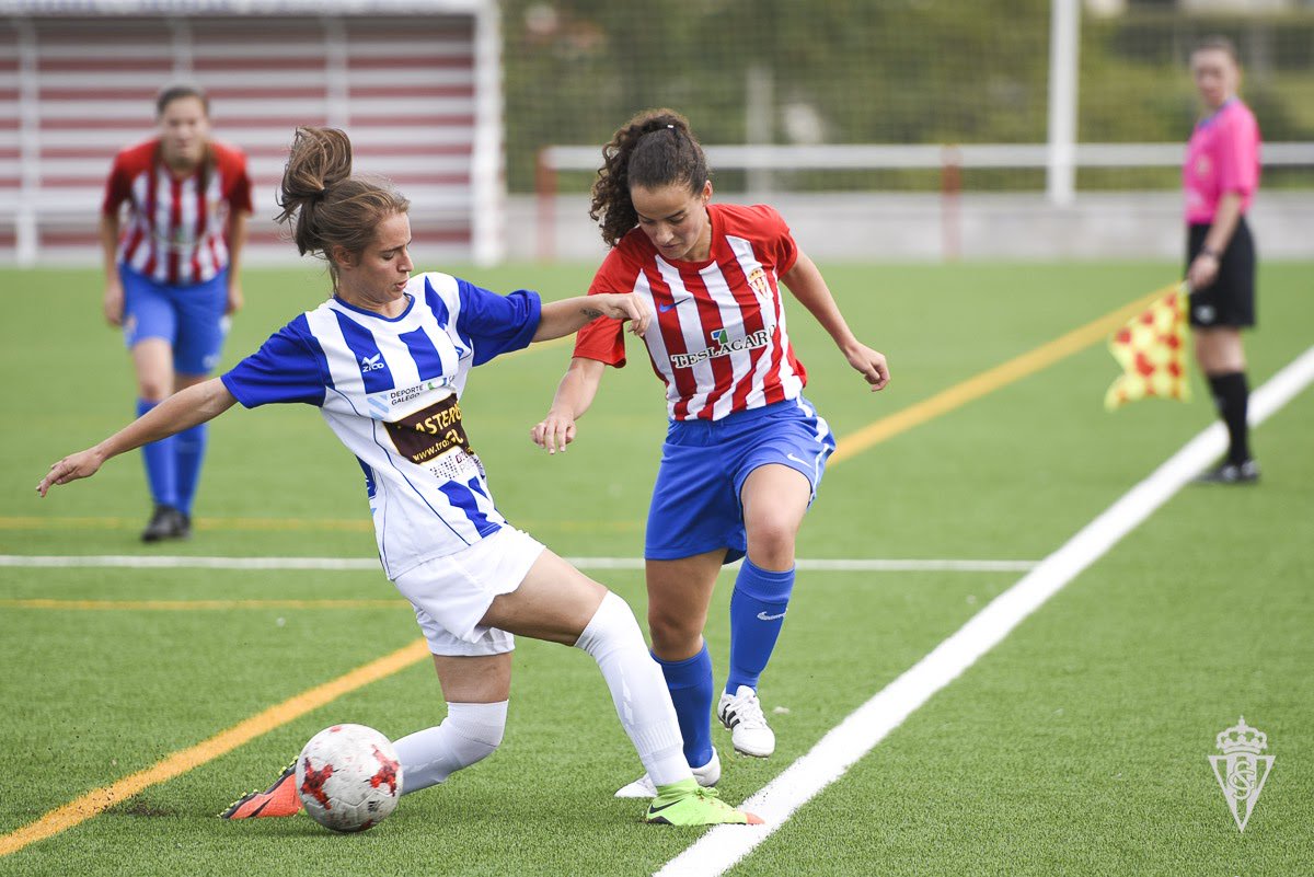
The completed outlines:
{"type": "Polygon", "coordinates": [[[283,213],[275,222],[292,228],[297,252],[328,263],[335,288],[334,251],[365,252],[381,221],[410,210],[410,201],[392,180],[352,176],[351,140],[332,127],[297,129],[277,202],[283,213]]]}

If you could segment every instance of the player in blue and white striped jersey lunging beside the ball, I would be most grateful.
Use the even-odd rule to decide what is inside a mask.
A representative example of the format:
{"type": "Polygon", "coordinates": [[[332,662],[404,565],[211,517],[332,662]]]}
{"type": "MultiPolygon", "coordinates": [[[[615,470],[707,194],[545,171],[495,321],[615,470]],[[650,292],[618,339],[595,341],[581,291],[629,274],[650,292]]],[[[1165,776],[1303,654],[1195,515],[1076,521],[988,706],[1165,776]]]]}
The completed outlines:
{"type": "MultiPolygon", "coordinates": [[[[171,396],[100,444],[51,466],[38,491],[87,478],[110,457],[205,423],[240,402],[318,406],[365,473],[378,554],[414,605],[434,652],[447,718],[397,740],[403,793],[435,785],[501,743],[512,634],[589,652],[660,797],[648,822],[761,822],[695,782],[661,670],[629,607],[493,504],[460,396],[476,365],[531,341],[561,337],[598,316],[648,312],[633,295],[543,305],[497,295],[448,274],[413,276],[410,202],[389,181],[351,175],[342,131],[300,129],[283,179],[280,221],[302,253],[328,263],[332,297],[269,337],[219,378],[171,396]]],[[[293,815],[292,769],[223,815],[293,815]]]]}

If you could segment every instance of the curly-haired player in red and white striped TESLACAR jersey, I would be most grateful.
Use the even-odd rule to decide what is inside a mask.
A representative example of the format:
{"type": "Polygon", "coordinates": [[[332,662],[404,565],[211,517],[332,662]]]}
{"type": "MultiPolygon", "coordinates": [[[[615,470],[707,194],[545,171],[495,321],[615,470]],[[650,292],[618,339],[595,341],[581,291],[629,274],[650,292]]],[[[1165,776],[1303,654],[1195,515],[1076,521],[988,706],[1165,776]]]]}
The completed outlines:
{"type": "MultiPolygon", "coordinates": [[[[707,158],[683,116],[640,113],[603,148],[590,215],[611,246],[590,294],[629,293],[657,319],[644,337],[666,386],[670,427],[648,515],[648,624],[679,716],[685,758],[720,779],[711,740],[712,663],[703,639],[723,563],[745,557],[731,597],[731,667],[717,716],[736,750],[766,758],[775,735],[757,697],[794,587],[794,545],[834,437],[803,398],[779,284],[871,385],[886,357],[849,330],[821,272],[766,205],[710,203],[707,158]]],[[[607,365],[625,362],[619,320],[579,331],[536,444],[555,453],[607,365]]],[[[653,793],[648,777],[618,796],[653,793]]]]}

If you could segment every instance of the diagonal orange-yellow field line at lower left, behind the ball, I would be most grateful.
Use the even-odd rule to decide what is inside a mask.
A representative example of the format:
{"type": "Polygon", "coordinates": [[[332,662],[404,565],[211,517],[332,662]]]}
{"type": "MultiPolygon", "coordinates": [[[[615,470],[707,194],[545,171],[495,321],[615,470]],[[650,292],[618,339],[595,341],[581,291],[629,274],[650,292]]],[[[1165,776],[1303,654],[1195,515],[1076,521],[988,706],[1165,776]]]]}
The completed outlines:
{"type": "Polygon", "coordinates": [[[45,840],[51,835],[91,819],[109,807],[126,801],[159,782],[166,782],[176,776],[187,773],[206,761],[231,752],[237,747],[247,743],[261,734],[267,734],[276,727],[305,716],[306,713],[328,704],[343,695],[356,691],[364,685],[378,681],[428,658],[428,643],[417,639],[403,649],[398,649],[390,655],[385,655],[368,664],[357,667],[346,676],[339,676],[323,685],[317,685],[294,697],[271,706],[263,713],[234,725],[226,731],[219,731],[214,737],[189,748],[173,752],[163,761],[156,763],[145,771],[138,771],[125,776],[110,785],[92,789],[87,794],[51,810],[33,823],[16,831],[0,836],[0,856],[17,852],[30,843],[45,840]]]}

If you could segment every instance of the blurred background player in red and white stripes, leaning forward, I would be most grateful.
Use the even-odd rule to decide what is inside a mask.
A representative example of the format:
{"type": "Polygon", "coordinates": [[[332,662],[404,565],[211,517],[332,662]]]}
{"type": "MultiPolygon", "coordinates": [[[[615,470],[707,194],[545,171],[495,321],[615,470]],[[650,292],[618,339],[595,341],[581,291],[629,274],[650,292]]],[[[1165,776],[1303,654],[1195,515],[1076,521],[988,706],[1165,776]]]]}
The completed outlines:
{"type": "MultiPolygon", "coordinates": [[[[122,326],[131,351],[138,415],[218,365],[227,315],[242,307],[238,260],[251,214],[246,156],[210,139],[205,92],[166,85],[155,117],[158,137],[114,158],[100,218],[105,319],[122,326]]],[[[200,424],[143,449],[155,502],[145,541],[191,534],[205,444],[200,424]]]]}

